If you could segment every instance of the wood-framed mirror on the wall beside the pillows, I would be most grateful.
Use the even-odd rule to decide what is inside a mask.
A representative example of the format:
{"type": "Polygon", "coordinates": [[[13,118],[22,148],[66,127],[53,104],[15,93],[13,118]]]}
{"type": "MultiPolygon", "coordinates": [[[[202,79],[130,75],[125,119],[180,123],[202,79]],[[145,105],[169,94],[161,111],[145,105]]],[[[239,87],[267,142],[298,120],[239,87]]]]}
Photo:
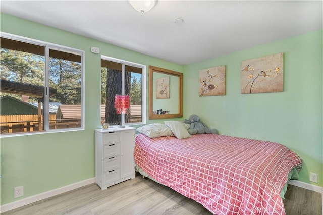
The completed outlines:
{"type": "Polygon", "coordinates": [[[183,117],[183,73],[149,66],[149,119],[183,117]]]}

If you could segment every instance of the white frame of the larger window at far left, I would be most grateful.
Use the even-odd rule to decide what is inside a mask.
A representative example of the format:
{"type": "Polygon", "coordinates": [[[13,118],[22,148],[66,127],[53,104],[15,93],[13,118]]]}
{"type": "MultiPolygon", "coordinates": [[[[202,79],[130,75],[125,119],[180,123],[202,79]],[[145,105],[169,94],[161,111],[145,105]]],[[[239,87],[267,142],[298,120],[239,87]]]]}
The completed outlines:
{"type": "Polygon", "coordinates": [[[45,133],[57,133],[57,132],[68,132],[68,131],[80,131],[84,130],[85,128],[85,51],[76,49],[76,48],[71,48],[68,46],[64,45],[59,45],[55,43],[50,43],[50,42],[45,42],[42,40],[36,40],[28,37],[23,37],[23,36],[18,36],[6,32],[1,32],[0,31],[0,37],[11,39],[11,40],[16,40],[16,41],[21,41],[33,45],[39,45],[43,46],[45,49],[45,80],[44,80],[44,88],[45,88],[45,99],[44,103],[47,104],[45,106],[49,106],[49,95],[46,94],[46,89],[49,89],[49,50],[58,50],[58,51],[64,51],[67,53],[72,53],[74,55],[80,55],[81,57],[81,127],[78,128],[62,128],[62,129],[49,129],[49,109],[43,110],[43,116],[45,120],[45,128],[42,131],[34,131],[34,132],[19,132],[19,133],[10,133],[6,135],[0,135],[0,138],[5,138],[5,137],[17,137],[17,136],[25,136],[25,135],[35,135],[35,134],[45,134],[45,133]]]}

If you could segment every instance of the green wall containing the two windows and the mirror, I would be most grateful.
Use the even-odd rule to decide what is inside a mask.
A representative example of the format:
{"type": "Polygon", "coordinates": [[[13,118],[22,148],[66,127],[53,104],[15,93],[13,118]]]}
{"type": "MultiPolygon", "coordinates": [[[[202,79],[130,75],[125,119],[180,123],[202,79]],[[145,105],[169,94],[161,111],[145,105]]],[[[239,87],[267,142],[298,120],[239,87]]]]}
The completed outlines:
{"type": "Polygon", "coordinates": [[[1,138],[1,205],[95,176],[94,129],[100,127],[100,55],[146,65],[147,77],[149,65],[183,72],[182,65],[7,14],[1,14],[1,31],[85,51],[85,130],[1,138]],[[100,48],[100,55],[90,52],[92,46],[100,48]],[[24,196],[14,199],[14,187],[21,185],[24,196]]]}

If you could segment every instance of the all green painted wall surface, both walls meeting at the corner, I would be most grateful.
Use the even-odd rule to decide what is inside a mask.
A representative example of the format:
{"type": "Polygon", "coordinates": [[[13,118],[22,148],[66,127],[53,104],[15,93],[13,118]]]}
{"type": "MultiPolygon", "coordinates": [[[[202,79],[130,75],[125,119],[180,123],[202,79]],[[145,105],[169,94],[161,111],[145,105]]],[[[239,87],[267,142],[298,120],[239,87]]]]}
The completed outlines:
{"type": "Polygon", "coordinates": [[[322,186],[322,31],[182,66],[6,14],[1,14],[0,30],[84,50],[86,107],[83,131],[0,139],[1,205],[94,177],[100,55],[90,52],[92,46],[101,55],[144,64],[147,70],[153,65],[183,72],[184,118],[198,114],[221,134],[287,145],[304,160],[300,180],[309,182],[308,172],[315,172],[322,186]],[[284,92],[241,95],[241,61],[278,52],[285,58],[284,92]],[[198,71],[218,65],[227,66],[226,95],[198,97],[198,71]],[[24,196],[14,199],[13,189],[21,185],[24,196]]]}

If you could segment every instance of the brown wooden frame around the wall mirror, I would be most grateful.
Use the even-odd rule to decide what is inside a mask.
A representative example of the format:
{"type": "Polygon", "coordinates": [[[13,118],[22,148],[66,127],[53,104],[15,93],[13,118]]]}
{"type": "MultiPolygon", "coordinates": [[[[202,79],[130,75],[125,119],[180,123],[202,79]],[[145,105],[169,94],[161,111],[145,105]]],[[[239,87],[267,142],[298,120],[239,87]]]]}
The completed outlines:
{"type": "Polygon", "coordinates": [[[149,66],[149,120],[169,119],[183,117],[183,73],[149,66]],[[175,114],[153,114],[153,72],[163,73],[178,77],[178,111],[175,114]]]}

